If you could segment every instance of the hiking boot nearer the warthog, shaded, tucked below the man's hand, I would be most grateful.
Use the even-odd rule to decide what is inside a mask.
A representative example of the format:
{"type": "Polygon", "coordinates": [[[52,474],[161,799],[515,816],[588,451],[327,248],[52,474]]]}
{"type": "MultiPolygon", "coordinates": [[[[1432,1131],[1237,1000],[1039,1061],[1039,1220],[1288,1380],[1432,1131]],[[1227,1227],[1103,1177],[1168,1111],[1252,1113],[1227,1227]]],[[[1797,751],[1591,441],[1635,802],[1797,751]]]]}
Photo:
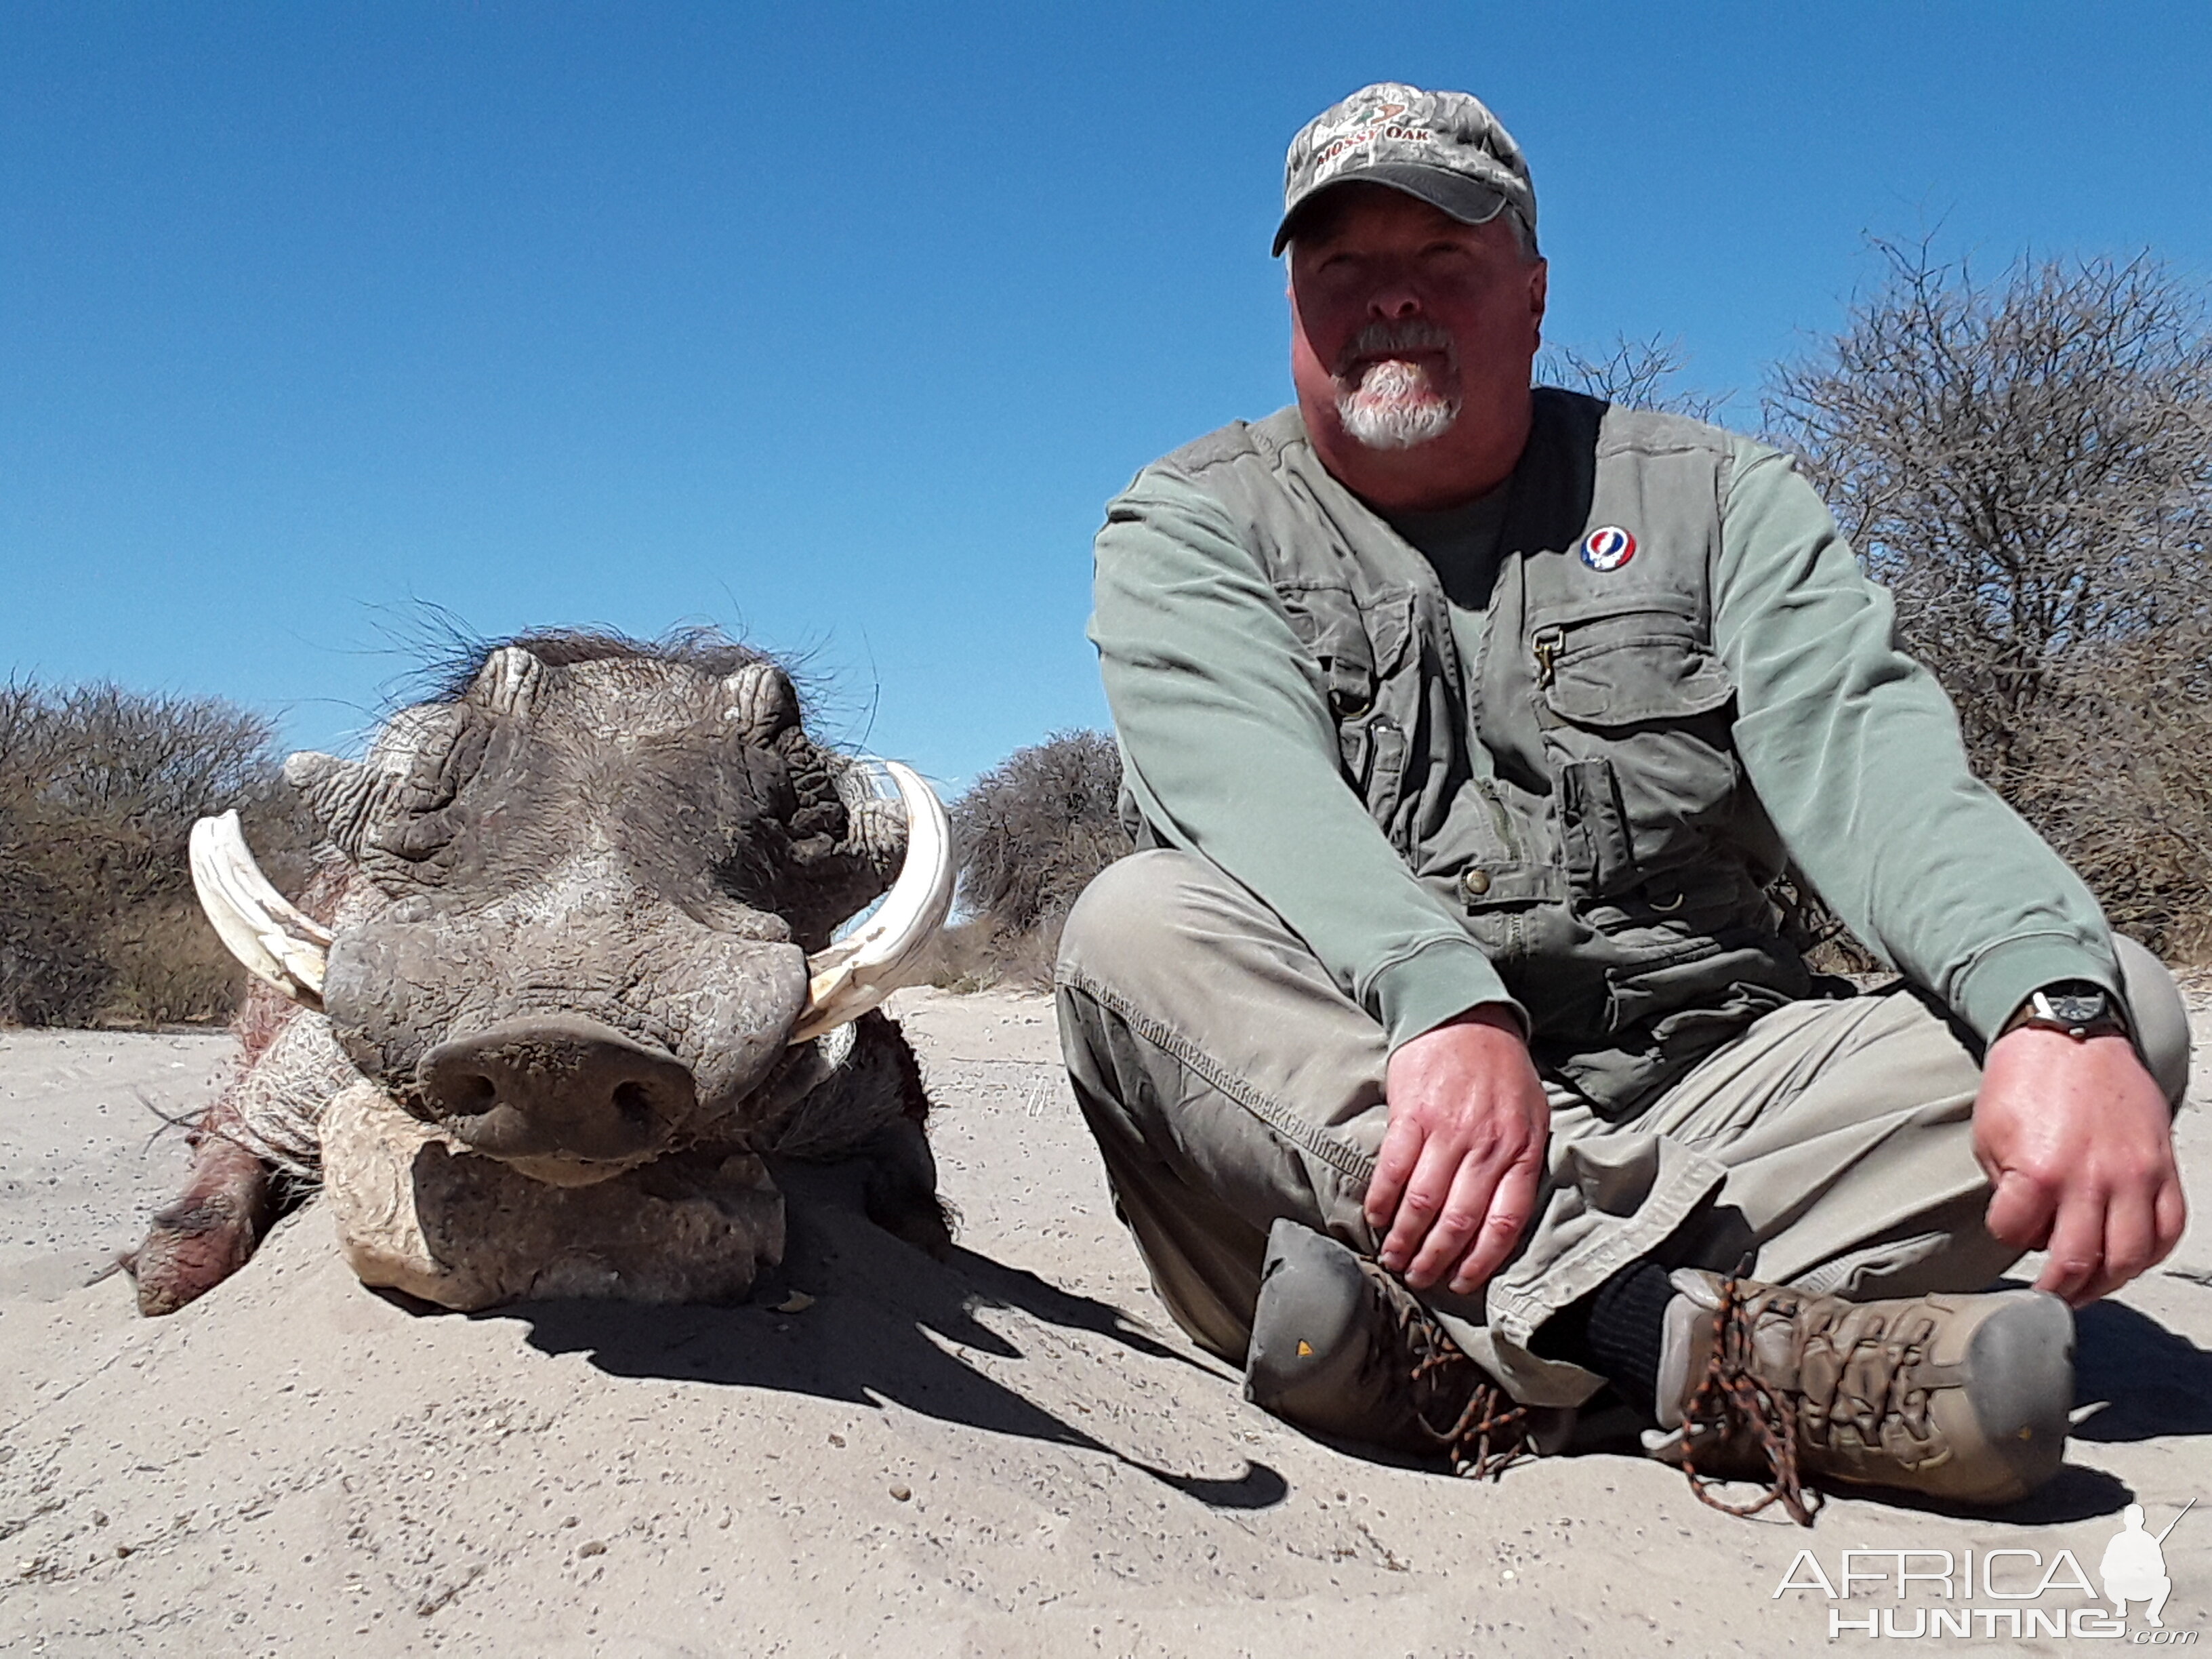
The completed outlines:
{"type": "Polygon", "coordinates": [[[1380,1263],[1296,1221],[1267,1232],[1245,1398],[1310,1433],[1360,1440],[1455,1475],[1553,1451],[1573,1411],[1522,1407],[1380,1263]]]}

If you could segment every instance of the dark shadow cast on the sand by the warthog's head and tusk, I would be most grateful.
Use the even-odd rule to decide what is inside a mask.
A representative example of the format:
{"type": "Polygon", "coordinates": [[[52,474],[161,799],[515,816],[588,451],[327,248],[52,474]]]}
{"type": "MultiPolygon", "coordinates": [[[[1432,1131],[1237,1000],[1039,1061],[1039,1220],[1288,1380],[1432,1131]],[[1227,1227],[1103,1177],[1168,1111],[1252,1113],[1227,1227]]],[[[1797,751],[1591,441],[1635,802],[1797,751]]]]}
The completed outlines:
{"type": "Polygon", "coordinates": [[[1115,1307],[1046,1285],[1018,1267],[956,1250],[931,1261],[876,1228],[836,1181],[785,1181],[783,1267],[763,1274],[743,1307],[641,1307],[604,1301],[515,1303],[471,1318],[529,1325],[542,1354],[584,1354],[611,1376],[812,1394],[876,1409],[885,1400],[945,1422],[1113,1458],[1214,1509],[1270,1509],[1290,1484],[1245,1460],[1234,1478],[1157,1469],[1046,1411],[962,1352],[1020,1360],[1004,1332],[978,1318],[1020,1310],[1046,1325],[1108,1336],[1146,1358],[1192,1365],[1130,1327],[1115,1307]],[[779,1312],[790,1292],[812,1301],[779,1312]]]}

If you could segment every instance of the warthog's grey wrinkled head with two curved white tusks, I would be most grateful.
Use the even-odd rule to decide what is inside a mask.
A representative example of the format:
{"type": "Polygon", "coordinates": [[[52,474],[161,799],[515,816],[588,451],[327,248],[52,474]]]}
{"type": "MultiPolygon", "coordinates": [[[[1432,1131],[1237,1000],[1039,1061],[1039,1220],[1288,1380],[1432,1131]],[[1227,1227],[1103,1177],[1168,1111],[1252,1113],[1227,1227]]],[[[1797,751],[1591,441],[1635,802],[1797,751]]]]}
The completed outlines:
{"type": "Polygon", "coordinates": [[[584,1186],[752,1144],[818,1082],[810,1040],[942,922],[945,812],[887,770],[900,801],[818,748],[785,672],[741,646],[538,635],[396,714],[365,761],[285,763],[356,872],[334,927],[274,891],[234,816],[199,825],[192,874],[246,967],[321,1009],[409,1115],[584,1186]]]}

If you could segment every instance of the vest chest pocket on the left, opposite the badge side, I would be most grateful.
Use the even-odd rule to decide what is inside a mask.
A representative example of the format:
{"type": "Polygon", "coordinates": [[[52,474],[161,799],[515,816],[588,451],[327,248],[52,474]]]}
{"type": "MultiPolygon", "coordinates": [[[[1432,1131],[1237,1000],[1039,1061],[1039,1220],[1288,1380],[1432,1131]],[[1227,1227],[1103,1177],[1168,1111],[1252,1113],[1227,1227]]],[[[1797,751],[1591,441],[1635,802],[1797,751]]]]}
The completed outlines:
{"type": "Polygon", "coordinates": [[[1276,595],[1321,670],[1345,781],[1376,821],[1387,823],[1411,721],[1396,688],[1411,655],[1413,595],[1391,591],[1360,604],[1352,588],[1334,584],[1279,584],[1276,595]]]}

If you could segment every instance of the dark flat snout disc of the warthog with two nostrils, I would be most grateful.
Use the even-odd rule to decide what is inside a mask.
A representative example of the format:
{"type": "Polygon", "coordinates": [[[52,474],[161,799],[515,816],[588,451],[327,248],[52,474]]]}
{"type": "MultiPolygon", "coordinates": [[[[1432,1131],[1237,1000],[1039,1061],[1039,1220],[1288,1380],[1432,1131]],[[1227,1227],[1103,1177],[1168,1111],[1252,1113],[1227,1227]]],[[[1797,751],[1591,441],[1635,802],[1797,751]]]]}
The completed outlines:
{"type": "Polygon", "coordinates": [[[637,1159],[692,1110],[686,1064],[580,1015],[442,1042],[418,1079],[440,1128],[500,1159],[637,1159]]]}

